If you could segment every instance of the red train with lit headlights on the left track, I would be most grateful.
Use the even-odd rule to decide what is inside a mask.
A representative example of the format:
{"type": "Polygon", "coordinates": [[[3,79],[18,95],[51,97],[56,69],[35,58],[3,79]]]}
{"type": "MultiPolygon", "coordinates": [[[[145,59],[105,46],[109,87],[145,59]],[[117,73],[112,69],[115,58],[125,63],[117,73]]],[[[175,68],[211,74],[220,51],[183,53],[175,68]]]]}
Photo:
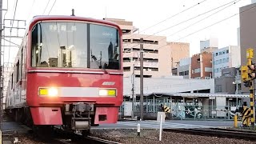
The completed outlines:
{"type": "Polygon", "coordinates": [[[113,22],[36,16],[10,74],[6,111],[32,126],[90,131],[122,104],[122,30],[113,22]]]}

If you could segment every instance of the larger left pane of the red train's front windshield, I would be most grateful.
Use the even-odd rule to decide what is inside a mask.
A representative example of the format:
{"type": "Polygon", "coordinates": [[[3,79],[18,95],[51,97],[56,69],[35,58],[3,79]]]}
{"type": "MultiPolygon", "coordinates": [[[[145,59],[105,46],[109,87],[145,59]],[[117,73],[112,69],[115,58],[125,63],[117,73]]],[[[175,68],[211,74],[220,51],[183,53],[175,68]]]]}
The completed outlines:
{"type": "Polygon", "coordinates": [[[41,22],[32,29],[31,65],[87,68],[87,24],[41,22]]]}

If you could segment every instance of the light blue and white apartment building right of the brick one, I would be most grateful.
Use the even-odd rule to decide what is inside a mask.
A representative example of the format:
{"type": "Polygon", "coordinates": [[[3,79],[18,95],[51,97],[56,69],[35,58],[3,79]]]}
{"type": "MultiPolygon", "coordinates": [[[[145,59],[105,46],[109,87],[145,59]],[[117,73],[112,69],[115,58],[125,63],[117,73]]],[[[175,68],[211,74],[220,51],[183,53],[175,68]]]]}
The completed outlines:
{"type": "Polygon", "coordinates": [[[222,69],[239,67],[240,51],[238,46],[226,46],[213,52],[214,78],[222,76],[222,69]]]}

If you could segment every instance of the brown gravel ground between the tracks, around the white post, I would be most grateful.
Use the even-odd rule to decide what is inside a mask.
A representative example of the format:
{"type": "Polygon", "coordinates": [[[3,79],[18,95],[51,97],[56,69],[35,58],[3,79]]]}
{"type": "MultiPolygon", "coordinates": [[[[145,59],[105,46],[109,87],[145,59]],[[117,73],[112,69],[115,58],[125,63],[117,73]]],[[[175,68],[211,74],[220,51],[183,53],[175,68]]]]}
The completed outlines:
{"type": "Polygon", "coordinates": [[[155,144],[155,143],[198,143],[198,144],[250,144],[250,142],[241,139],[206,137],[191,134],[179,134],[171,132],[162,133],[162,141],[159,142],[159,130],[141,130],[141,137],[137,136],[137,130],[92,130],[92,135],[100,138],[107,138],[111,141],[121,142],[122,144],[155,144]]]}

